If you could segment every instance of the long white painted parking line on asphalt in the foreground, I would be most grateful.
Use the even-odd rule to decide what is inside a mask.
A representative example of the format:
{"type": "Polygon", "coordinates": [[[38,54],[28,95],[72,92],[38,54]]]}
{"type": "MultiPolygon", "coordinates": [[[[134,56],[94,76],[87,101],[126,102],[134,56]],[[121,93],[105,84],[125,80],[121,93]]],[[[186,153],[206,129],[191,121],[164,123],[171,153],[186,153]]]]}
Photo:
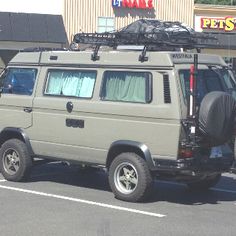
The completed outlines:
{"type": "Polygon", "coordinates": [[[109,204],[100,203],[100,202],[93,202],[93,201],[83,200],[83,199],[79,199],[79,198],[66,197],[66,196],[50,194],[50,193],[44,193],[44,192],[38,192],[38,191],[32,191],[32,190],[27,190],[27,189],[22,189],[22,188],[8,187],[8,186],[4,186],[4,185],[0,185],[0,188],[7,189],[7,190],[12,190],[12,191],[23,192],[23,193],[34,194],[34,195],[39,195],[39,196],[43,196],[43,197],[50,197],[50,198],[67,200],[67,201],[72,201],[72,202],[79,202],[79,203],[83,203],[83,204],[99,206],[99,207],[114,209],[114,210],[118,210],[118,211],[126,211],[126,212],[130,212],[130,213],[135,213],[135,214],[141,214],[141,215],[147,215],[147,216],[153,216],[153,217],[159,217],[159,218],[162,218],[162,217],[166,216],[166,215],[157,214],[157,213],[154,213],[154,212],[140,211],[140,210],[136,210],[136,209],[132,209],[132,208],[114,206],[114,205],[109,205],[109,204]]]}

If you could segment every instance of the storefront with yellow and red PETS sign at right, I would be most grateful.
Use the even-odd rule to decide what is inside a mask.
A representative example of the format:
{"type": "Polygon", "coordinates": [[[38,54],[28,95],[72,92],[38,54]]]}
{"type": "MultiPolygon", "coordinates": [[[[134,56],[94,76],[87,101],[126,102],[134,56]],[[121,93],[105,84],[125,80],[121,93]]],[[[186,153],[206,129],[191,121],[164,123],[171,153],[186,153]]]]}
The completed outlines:
{"type": "Polygon", "coordinates": [[[197,4],[194,28],[217,38],[211,48],[202,51],[221,55],[236,70],[236,7],[197,4]]]}

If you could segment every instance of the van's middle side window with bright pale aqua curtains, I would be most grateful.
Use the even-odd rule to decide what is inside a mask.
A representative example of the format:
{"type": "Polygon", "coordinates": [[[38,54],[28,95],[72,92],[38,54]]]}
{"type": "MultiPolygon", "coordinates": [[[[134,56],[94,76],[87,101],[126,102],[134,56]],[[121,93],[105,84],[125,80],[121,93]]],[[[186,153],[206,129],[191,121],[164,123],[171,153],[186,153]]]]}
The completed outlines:
{"type": "Polygon", "coordinates": [[[96,71],[49,70],[44,94],[91,98],[96,71]]]}

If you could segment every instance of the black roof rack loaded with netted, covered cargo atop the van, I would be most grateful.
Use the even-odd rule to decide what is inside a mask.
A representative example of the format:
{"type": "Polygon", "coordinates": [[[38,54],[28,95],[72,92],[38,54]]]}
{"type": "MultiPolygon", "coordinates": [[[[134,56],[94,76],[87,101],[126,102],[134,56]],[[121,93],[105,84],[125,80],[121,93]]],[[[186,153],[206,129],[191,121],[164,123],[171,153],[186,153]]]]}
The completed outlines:
{"type": "MultiPolygon", "coordinates": [[[[209,34],[194,31],[180,22],[159,20],[137,20],[118,31],[105,33],[78,33],[74,36],[74,45],[87,44],[94,48],[92,60],[99,60],[101,46],[117,48],[118,45],[143,45],[140,61],[148,60],[146,51],[176,51],[206,48],[217,39],[209,34]]],[[[80,50],[80,48],[79,48],[80,50]]]]}

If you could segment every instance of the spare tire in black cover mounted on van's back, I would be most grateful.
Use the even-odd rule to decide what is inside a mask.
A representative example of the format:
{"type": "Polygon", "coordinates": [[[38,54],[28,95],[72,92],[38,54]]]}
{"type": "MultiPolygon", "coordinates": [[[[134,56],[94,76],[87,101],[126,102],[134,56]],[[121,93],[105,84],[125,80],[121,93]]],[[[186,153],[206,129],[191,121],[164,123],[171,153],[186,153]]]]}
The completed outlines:
{"type": "Polygon", "coordinates": [[[202,100],[199,109],[199,131],[210,146],[226,143],[233,134],[236,101],[228,93],[214,91],[202,100]]]}

